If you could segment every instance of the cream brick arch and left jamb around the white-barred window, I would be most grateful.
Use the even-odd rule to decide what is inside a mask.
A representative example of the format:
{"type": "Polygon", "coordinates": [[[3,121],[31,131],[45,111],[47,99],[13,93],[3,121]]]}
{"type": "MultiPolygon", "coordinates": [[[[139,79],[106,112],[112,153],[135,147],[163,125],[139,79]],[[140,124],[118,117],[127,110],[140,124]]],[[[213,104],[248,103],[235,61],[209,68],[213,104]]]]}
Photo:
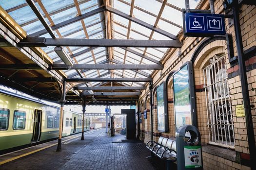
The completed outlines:
{"type": "Polygon", "coordinates": [[[222,55],[227,53],[226,49],[226,37],[216,36],[213,38],[206,38],[198,45],[191,58],[194,68],[194,79],[196,88],[197,122],[198,129],[201,133],[201,136],[203,136],[201,138],[203,143],[209,142],[209,134],[208,131],[205,130],[207,129],[205,128],[207,119],[204,118],[207,117],[207,105],[205,103],[205,92],[203,89],[204,74],[202,69],[210,64],[209,60],[214,55],[222,55]]]}

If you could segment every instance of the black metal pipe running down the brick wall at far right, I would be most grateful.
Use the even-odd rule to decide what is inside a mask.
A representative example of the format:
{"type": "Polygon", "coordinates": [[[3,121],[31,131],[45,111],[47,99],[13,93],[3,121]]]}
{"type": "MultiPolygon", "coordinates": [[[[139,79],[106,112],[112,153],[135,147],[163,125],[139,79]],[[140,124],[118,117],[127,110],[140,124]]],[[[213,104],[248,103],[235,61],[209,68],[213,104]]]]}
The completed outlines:
{"type": "Polygon", "coordinates": [[[249,145],[249,152],[250,152],[250,166],[252,170],[255,170],[256,169],[256,163],[255,163],[256,162],[256,146],[255,146],[254,127],[253,127],[251,103],[250,103],[250,97],[249,97],[249,91],[248,91],[246,67],[245,67],[245,61],[244,61],[241,29],[240,29],[240,23],[239,23],[238,2],[237,0],[235,0],[234,2],[235,3],[232,5],[232,11],[234,15],[234,27],[235,27],[235,33],[236,33],[238,66],[239,66],[239,73],[240,73],[240,80],[241,80],[240,82],[242,87],[246,130],[247,130],[248,145],[249,145]]]}

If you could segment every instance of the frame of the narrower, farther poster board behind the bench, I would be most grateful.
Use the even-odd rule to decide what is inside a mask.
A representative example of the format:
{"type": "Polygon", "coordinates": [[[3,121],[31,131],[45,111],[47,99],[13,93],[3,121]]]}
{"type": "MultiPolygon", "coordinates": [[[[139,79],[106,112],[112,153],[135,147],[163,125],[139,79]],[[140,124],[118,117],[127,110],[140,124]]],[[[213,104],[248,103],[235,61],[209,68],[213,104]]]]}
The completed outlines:
{"type": "MultiPolygon", "coordinates": [[[[159,127],[158,127],[158,131],[159,132],[169,132],[166,82],[162,82],[160,85],[163,85],[164,130],[159,130],[159,127]]],[[[158,87],[160,85],[157,86],[157,115],[158,115],[158,87]]]]}

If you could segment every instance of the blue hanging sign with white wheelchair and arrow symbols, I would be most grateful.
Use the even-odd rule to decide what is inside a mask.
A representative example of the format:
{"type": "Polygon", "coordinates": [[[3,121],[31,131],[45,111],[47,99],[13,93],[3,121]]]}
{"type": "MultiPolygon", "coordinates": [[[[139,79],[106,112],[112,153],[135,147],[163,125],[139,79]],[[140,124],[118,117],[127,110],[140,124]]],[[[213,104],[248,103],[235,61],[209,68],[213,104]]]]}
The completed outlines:
{"type": "Polygon", "coordinates": [[[224,35],[224,15],[205,13],[185,13],[184,33],[188,36],[224,35]]]}

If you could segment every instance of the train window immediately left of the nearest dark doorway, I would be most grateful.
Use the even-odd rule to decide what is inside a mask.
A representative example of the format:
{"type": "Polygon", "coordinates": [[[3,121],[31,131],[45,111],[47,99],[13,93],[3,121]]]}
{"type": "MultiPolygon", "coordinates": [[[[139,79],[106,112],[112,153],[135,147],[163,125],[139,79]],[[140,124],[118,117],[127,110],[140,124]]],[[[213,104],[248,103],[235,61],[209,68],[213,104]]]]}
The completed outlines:
{"type": "Polygon", "coordinates": [[[13,129],[25,129],[26,125],[26,112],[15,110],[13,116],[13,129]]]}

